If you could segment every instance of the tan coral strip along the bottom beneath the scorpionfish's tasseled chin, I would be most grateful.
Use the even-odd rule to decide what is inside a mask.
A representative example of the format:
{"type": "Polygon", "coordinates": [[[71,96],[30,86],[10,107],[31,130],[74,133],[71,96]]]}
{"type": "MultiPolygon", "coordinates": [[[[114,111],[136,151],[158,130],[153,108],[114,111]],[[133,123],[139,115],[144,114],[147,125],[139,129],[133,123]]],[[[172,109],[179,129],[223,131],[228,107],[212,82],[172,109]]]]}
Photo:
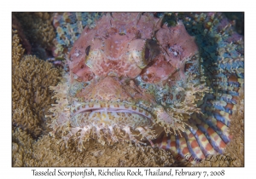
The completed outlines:
{"type": "Polygon", "coordinates": [[[12,166],[170,166],[176,165],[172,154],[160,148],[135,147],[126,142],[113,146],[86,141],[86,150],[80,153],[76,143],[71,141],[65,147],[51,136],[43,136],[33,141],[26,132],[17,129],[12,133],[12,166]]]}

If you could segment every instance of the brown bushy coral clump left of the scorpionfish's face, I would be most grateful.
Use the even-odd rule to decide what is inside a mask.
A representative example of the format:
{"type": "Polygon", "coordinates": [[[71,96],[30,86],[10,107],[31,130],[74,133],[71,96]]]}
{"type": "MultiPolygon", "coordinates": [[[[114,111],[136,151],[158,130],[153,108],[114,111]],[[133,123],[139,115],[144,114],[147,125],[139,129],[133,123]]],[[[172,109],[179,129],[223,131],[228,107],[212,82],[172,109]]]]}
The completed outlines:
{"type": "Polygon", "coordinates": [[[49,85],[58,82],[60,70],[32,55],[23,56],[20,39],[13,34],[12,44],[12,117],[13,126],[32,136],[42,133],[44,115],[54,100],[49,85]]]}

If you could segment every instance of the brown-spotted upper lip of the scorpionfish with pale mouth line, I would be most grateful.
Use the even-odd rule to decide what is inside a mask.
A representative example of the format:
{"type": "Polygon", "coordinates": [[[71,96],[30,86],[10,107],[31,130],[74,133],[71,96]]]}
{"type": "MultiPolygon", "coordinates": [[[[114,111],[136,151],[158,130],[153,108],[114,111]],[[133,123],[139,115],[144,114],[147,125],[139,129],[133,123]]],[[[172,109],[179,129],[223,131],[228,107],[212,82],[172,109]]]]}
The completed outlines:
{"type": "Polygon", "coordinates": [[[143,118],[148,118],[152,120],[153,116],[148,113],[143,107],[137,107],[135,105],[125,103],[125,102],[87,102],[79,103],[76,107],[71,108],[71,115],[75,116],[79,113],[101,113],[101,112],[114,112],[114,113],[133,113],[142,116],[143,118]]]}

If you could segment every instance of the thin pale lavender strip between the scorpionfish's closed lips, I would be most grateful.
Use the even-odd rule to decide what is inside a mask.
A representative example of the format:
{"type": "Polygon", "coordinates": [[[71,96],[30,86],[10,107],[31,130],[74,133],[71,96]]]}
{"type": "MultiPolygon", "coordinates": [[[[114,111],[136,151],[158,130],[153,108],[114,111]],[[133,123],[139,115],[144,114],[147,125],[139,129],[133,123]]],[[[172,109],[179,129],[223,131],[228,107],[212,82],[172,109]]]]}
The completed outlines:
{"type": "Polygon", "coordinates": [[[82,107],[83,104],[79,105],[78,110],[76,110],[74,113],[72,113],[72,116],[75,116],[79,113],[84,113],[84,112],[115,112],[115,113],[135,113],[137,115],[140,115],[144,118],[148,118],[150,120],[152,120],[153,116],[145,109],[143,109],[142,107],[137,107],[137,106],[133,106],[133,107],[137,107],[137,110],[133,110],[133,109],[127,109],[125,107],[82,107]],[[139,110],[142,110],[142,112],[139,112],[139,110]]]}

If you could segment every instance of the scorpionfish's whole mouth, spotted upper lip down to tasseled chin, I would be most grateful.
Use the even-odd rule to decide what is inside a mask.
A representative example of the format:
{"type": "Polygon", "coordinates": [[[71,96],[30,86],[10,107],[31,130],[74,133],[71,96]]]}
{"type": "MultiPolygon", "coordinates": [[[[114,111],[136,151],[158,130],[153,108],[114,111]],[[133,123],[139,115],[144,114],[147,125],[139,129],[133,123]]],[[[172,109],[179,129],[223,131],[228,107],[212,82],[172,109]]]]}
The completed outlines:
{"type": "Polygon", "coordinates": [[[105,143],[134,141],[152,146],[154,135],[154,113],[131,103],[90,101],[74,102],[70,108],[70,124],[75,132],[80,130],[82,138],[96,138],[105,143]]]}

